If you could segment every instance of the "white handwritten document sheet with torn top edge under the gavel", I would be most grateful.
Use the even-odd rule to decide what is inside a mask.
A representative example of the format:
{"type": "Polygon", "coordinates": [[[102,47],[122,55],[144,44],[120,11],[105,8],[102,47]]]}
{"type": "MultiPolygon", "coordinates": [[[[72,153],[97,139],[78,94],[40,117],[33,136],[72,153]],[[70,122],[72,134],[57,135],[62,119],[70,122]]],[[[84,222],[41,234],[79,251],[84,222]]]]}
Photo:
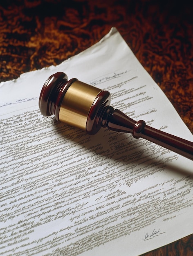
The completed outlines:
{"type": "Polygon", "coordinates": [[[47,78],[108,90],[134,120],[193,141],[112,28],[58,66],[0,83],[0,255],[136,256],[193,233],[193,162],[132,135],[43,117],[47,78]]]}

